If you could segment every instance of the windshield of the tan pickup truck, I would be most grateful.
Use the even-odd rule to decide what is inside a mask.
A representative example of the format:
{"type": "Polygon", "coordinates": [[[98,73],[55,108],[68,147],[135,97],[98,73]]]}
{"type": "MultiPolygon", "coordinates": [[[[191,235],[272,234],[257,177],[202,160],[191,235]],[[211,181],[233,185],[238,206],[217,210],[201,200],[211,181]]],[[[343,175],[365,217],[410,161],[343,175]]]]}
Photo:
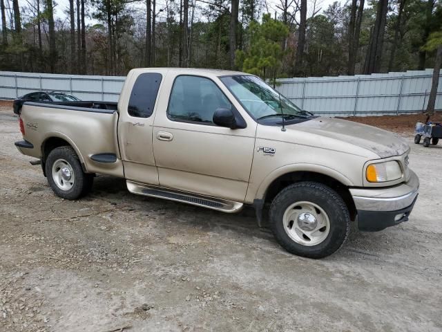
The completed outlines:
{"type": "Polygon", "coordinates": [[[234,75],[220,77],[227,89],[235,95],[242,106],[255,118],[307,118],[309,114],[302,111],[264,81],[251,75],[234,75]]]}

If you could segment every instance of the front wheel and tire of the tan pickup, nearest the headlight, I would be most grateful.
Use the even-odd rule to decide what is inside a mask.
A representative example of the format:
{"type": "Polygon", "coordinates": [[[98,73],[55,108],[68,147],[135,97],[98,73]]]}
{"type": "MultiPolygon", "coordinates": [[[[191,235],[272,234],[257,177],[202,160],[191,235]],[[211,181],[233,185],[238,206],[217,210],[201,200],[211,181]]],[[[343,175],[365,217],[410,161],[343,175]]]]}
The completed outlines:
{"type": "Polygon", "coordinates": [[[330,187],[316,182],[300,182],[289,185],[273,199],[270,226],[280,246],[288,252],[302,257],[323,258],[343,246],[349,234],[350,216],[343,199],[330,187]],[[311,215],[317,222],[316,230],[307,234],[300,227],[315,225],[308,224],[311,215]],[[296,220],[287,223],[292,217],[296,220]],[[328,224],[325,222],[327,219],[328,224]],[[307,225],[303,223],[306,220],[307,225]],[[309,241],[305,238],[306,234],[309,241]]]}

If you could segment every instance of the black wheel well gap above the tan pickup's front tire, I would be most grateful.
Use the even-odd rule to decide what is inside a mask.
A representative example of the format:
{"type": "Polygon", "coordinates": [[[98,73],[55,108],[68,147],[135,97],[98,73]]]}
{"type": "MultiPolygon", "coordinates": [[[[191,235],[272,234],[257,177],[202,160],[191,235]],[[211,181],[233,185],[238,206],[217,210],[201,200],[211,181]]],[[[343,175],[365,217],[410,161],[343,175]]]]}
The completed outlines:
{"type": "Polygon", "coordinates": [[[350,218],[352,220],[356,219],[356,206],[354,205],[354,201],[352,199],[352,195],[348,190],[348,187],[346,185],[343,185],[343,183],[337,181],[335,178],[332,178],[331,176],[316,172],[292,172],[276,178],[267,188],[265,194],[265,203],[271,203],[278,192],[283,190],[288,185],[300,181],[314,181],[318,183],[323,183],[324,185],[331,187],[333,190],[338,192],[338,194],[344,200],[345,205],[347,205],[347,208],[349,210],[350,218]]]}

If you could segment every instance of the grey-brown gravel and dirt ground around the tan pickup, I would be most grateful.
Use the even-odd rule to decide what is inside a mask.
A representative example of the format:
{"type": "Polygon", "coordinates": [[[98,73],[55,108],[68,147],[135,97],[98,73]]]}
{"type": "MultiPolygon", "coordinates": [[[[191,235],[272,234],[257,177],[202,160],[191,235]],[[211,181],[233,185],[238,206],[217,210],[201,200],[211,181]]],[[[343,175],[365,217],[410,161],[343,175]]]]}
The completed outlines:
{"type": "Polygon", "coordinates": [[[405,135],[421,179],[410,221],[352,228],[313,260],[250,210],[135,196],[122,179],[59,199],[0,107],[0,331],[442,331],[442,145],[405,135]]]}

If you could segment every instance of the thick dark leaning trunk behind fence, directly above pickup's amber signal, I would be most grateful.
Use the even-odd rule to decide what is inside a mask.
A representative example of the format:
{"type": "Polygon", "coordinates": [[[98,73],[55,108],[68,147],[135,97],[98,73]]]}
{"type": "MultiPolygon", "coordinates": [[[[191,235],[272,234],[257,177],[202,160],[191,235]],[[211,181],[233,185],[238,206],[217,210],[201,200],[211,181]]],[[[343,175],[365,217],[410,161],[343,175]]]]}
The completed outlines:
{"type": "Polygon", "coordinates": [[[382,48],[384,42],[385,22],[387,20],[388,0],[380,0],[376,11],[376,21],[365,58],[364,73],[369,75],[381,71],[382,48]]]}

